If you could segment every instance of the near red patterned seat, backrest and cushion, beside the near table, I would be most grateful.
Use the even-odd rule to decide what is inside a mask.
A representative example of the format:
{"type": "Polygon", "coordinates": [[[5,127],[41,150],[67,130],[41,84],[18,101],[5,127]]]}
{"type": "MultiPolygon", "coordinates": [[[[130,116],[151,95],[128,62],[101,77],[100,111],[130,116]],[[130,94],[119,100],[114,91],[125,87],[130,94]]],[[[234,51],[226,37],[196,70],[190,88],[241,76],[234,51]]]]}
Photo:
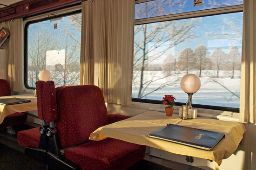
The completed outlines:
{"type": "Polygon", "coordinates": [[[55,122],[65,157],[83,170],[125,170],[145,156],[145,146],[117,139],[88,141],[98,127],[128,116],[108,115],[101,89],[92,86],[56,88],[58,119],[55,122]]]}

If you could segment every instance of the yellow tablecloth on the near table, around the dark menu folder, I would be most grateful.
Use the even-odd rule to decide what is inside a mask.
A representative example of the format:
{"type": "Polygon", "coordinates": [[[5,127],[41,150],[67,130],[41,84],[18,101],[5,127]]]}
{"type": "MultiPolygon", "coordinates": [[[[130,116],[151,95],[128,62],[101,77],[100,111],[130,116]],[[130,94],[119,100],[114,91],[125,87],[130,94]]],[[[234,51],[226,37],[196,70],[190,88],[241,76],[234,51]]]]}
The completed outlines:
{"type": "Polygon", "coordinates": [[[236,151],[238,144],[241,139],[243,139],[243,133],[245,131],[245,127],[239,122],[203,118],[182,120],[176,114],[172,117],[168,117],[165,113],[148,111],[126,120],[102,126],[94,131],[89,139],[102,140],[110,137],[139,145],[147,145],[175,154],[209,159],[216,162],[216,169],[218,169],[218,165],[221,164],[222,159],[228,158],[236,151]],[[186,145],[148,138],[149,133],[166,126],[168,123],[223,132],[226,136],[212,151],[205,151],[186,145]]]}

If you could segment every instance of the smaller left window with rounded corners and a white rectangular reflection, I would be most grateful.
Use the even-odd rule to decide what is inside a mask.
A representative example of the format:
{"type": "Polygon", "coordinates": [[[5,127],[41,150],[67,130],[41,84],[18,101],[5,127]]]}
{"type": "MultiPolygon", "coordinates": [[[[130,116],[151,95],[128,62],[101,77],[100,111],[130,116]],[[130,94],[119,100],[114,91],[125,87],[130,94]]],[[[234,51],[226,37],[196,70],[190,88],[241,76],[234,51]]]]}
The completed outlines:
{"type": "Polygon", "coordinates": [[[81,13],[27,22],[25,86],[35,88],[43,69],[51,72],[56,87],[79,85],[80,49],[81,13]]]}

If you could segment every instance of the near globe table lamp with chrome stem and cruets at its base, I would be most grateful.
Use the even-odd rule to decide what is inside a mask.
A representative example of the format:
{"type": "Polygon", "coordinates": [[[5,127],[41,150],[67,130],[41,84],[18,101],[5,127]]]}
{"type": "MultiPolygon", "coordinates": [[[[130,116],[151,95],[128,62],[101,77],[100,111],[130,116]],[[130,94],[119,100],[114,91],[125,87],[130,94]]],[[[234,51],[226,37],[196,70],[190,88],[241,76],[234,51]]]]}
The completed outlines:
{"type": "Polygon", "coordinates": [[[192,109],[192,95],[196,93],[200,87],[201,81],[198,76],[194,74],[187,74],[182,77],[181,88],[185,93],[189,95],[188,105],[182,106],[180,113],[182,119],[195,119],[197,117],[197,110],[192,109]]]}

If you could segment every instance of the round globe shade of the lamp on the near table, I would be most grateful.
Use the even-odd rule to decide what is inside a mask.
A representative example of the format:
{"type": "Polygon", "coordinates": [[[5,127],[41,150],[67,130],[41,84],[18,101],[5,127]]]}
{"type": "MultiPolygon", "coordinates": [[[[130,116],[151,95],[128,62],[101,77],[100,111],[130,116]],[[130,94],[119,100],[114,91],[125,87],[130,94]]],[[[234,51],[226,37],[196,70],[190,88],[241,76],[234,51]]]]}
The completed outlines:
{"type": "Polygon", "coordinates": [[[201,81],[198,76],[194,74],[187,74],[182,77],[181,88],[186,93],[195,93],[201,87],[201,81]]]}

